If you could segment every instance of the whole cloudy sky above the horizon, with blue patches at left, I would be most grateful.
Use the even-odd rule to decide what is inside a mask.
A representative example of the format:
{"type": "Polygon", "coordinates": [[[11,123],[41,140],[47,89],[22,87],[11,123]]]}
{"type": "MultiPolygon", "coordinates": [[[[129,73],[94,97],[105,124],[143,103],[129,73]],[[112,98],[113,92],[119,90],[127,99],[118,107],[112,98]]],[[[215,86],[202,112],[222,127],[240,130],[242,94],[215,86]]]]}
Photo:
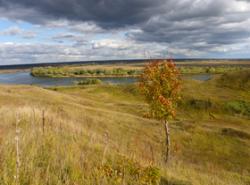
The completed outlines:
{"type": "Polygon", "coordinates": [[[250,0],[0,0],[0,65],[250,58],[250,0]]]}

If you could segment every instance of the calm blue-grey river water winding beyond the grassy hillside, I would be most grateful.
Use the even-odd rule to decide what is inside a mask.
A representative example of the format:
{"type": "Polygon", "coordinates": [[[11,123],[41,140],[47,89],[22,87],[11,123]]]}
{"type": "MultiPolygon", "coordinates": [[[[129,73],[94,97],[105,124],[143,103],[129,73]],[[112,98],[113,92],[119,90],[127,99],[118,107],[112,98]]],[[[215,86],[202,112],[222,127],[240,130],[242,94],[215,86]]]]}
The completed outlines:
{"type": "MultiPolygon", "coordinates": [[[[211,78],[209,74],[188,75],[185,78],[206,81],[211,78]]],[[[0,84],[29,84],[40,86],[65,86],[73,85],[75,81],[84,78],[48,78],[48,77],[33,77],[29,72],[15,72],[0,74],[0,84]]],[[[99,78],[104,83],[112,84],[128,84],[137,81],[136,78],[99,78]]]]}

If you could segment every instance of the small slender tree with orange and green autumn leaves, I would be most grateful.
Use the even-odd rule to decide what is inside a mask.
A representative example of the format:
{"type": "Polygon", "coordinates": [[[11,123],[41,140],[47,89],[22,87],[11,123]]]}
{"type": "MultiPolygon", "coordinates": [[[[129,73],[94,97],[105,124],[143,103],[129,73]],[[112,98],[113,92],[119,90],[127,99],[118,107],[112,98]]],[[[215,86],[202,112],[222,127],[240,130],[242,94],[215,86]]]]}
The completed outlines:
{"type": "Polygon", "coordinates": [[[166,162],[170,157],[170,130],[168,120],[176,116],[180,99],[180,75],[173,60],[150,62],[140,76],[140,89],[150,107],[150,115],[165,126],[166,162]]]}

